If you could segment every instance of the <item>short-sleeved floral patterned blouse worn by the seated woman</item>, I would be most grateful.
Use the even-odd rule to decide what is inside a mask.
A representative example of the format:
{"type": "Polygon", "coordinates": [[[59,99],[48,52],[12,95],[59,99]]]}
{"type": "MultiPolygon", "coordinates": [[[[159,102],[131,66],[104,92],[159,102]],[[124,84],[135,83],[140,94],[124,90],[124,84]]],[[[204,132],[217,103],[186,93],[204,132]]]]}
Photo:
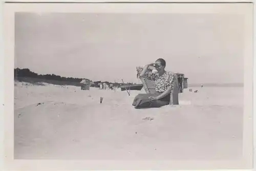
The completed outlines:
{"type": "Polygon", "coordinates": [[[163,75],[159,75],[158,73],[146,72],[146,78],[155,81],[156,84],[156,92],[164,92],[169,87],[174,89],[177,86],[177,76],[172,72],[165,72],[163,75]]]}

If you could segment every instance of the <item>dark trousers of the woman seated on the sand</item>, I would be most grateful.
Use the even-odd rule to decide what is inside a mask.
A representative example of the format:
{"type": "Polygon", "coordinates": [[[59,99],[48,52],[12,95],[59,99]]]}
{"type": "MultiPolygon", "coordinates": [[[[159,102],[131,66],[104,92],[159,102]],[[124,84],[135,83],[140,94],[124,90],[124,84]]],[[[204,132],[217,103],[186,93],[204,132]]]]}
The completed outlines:
{"type": "Polygon", "coordinates": [[[159,100],[150,100],[148,97],[158,96],[159,92],[156,92],[154,94],[138,94],[133,101],[133,104],[135,106],[135,109],[143,109],[143,108],[160,108],[161,106],[168,105],[170,102],[170,95],[167,95],[159,100]]]}

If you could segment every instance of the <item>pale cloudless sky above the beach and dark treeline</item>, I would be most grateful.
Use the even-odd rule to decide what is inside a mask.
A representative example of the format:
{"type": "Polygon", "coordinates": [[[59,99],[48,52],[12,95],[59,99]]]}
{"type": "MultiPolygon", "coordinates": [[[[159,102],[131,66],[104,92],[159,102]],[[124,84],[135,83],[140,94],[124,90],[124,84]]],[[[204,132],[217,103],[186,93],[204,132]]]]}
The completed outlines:
{"type": "Polygon", "coordinates": [[[243,46],[234,14],[15,14],[15,68],[38,74],[137,82],[163,58],[188,83],[243,83],[243,46]]]}

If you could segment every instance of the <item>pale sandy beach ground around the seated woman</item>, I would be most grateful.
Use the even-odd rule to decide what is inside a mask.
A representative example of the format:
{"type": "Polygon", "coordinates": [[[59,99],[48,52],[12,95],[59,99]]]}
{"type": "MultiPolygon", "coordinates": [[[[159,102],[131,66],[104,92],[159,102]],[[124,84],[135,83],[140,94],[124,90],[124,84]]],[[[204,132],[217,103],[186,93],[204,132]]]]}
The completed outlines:
{"type": "Polygon", "coordinates": [[[14,158],[240,159],[243,88],[193,90],[179,95],[180,105],[136,110],[141,91],[15,82],[14,158]]]}

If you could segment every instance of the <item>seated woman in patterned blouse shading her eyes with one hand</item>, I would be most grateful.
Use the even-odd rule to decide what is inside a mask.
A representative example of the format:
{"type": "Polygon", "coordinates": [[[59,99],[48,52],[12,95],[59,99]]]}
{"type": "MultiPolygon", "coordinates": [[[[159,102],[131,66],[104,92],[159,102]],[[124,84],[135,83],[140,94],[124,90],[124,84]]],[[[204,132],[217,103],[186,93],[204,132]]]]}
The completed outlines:
{"type": "Polygon", "coordinates": [[[155,63],[146,65],[140,78],[154,80],[156,84],[156,93],[154,94],[138,94],[133,102],[135,109],[140,108],[159,108],[163,105],[168,105],[170,102],[170,93],[177,86],[177,76],[172,72],[165,71],[166,62],[159,58],[155,63]],[[157,73],[150,72],[149,67],[154,67],[157,73]]]}

